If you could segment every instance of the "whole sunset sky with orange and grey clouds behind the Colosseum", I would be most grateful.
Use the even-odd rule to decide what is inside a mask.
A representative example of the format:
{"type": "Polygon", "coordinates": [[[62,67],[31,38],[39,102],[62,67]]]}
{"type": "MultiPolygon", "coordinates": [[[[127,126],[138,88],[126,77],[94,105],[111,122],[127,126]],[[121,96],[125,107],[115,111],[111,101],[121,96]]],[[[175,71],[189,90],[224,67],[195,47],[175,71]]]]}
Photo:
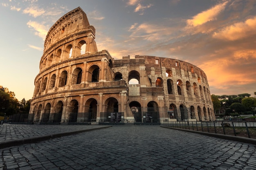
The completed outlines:
{"type": "Polygon", "coordinates": [[[152,55],[201,68],[214,95],[256,91],[256,0],[0,0],[0,85],[34,93],[45,36],[81,7],[98,51],[152,55]]]}

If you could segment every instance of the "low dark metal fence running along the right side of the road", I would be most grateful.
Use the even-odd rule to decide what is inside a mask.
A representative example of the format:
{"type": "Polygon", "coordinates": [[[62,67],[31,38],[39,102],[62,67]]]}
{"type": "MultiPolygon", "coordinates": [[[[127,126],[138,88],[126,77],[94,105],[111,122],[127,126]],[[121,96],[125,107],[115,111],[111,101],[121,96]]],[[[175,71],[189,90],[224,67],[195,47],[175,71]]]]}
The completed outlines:
{"type": "Polygon", "coordinates": [[[163,121],[162,126],[202,132],[256,138],[256,122],[247,121],[163,121]]]}

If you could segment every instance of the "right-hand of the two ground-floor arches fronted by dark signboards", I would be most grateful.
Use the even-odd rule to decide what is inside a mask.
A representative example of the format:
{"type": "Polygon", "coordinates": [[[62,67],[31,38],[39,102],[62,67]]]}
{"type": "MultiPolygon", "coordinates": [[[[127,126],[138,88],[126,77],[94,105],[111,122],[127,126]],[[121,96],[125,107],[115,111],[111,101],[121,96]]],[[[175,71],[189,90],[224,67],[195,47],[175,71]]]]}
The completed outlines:
{"type": "Polygon", "coordinates": [[[145,122],[146,123],[159,123],[159,110],[158,104],[155,101],[148,102],[148,112],[146,113],[145,122]]]}

